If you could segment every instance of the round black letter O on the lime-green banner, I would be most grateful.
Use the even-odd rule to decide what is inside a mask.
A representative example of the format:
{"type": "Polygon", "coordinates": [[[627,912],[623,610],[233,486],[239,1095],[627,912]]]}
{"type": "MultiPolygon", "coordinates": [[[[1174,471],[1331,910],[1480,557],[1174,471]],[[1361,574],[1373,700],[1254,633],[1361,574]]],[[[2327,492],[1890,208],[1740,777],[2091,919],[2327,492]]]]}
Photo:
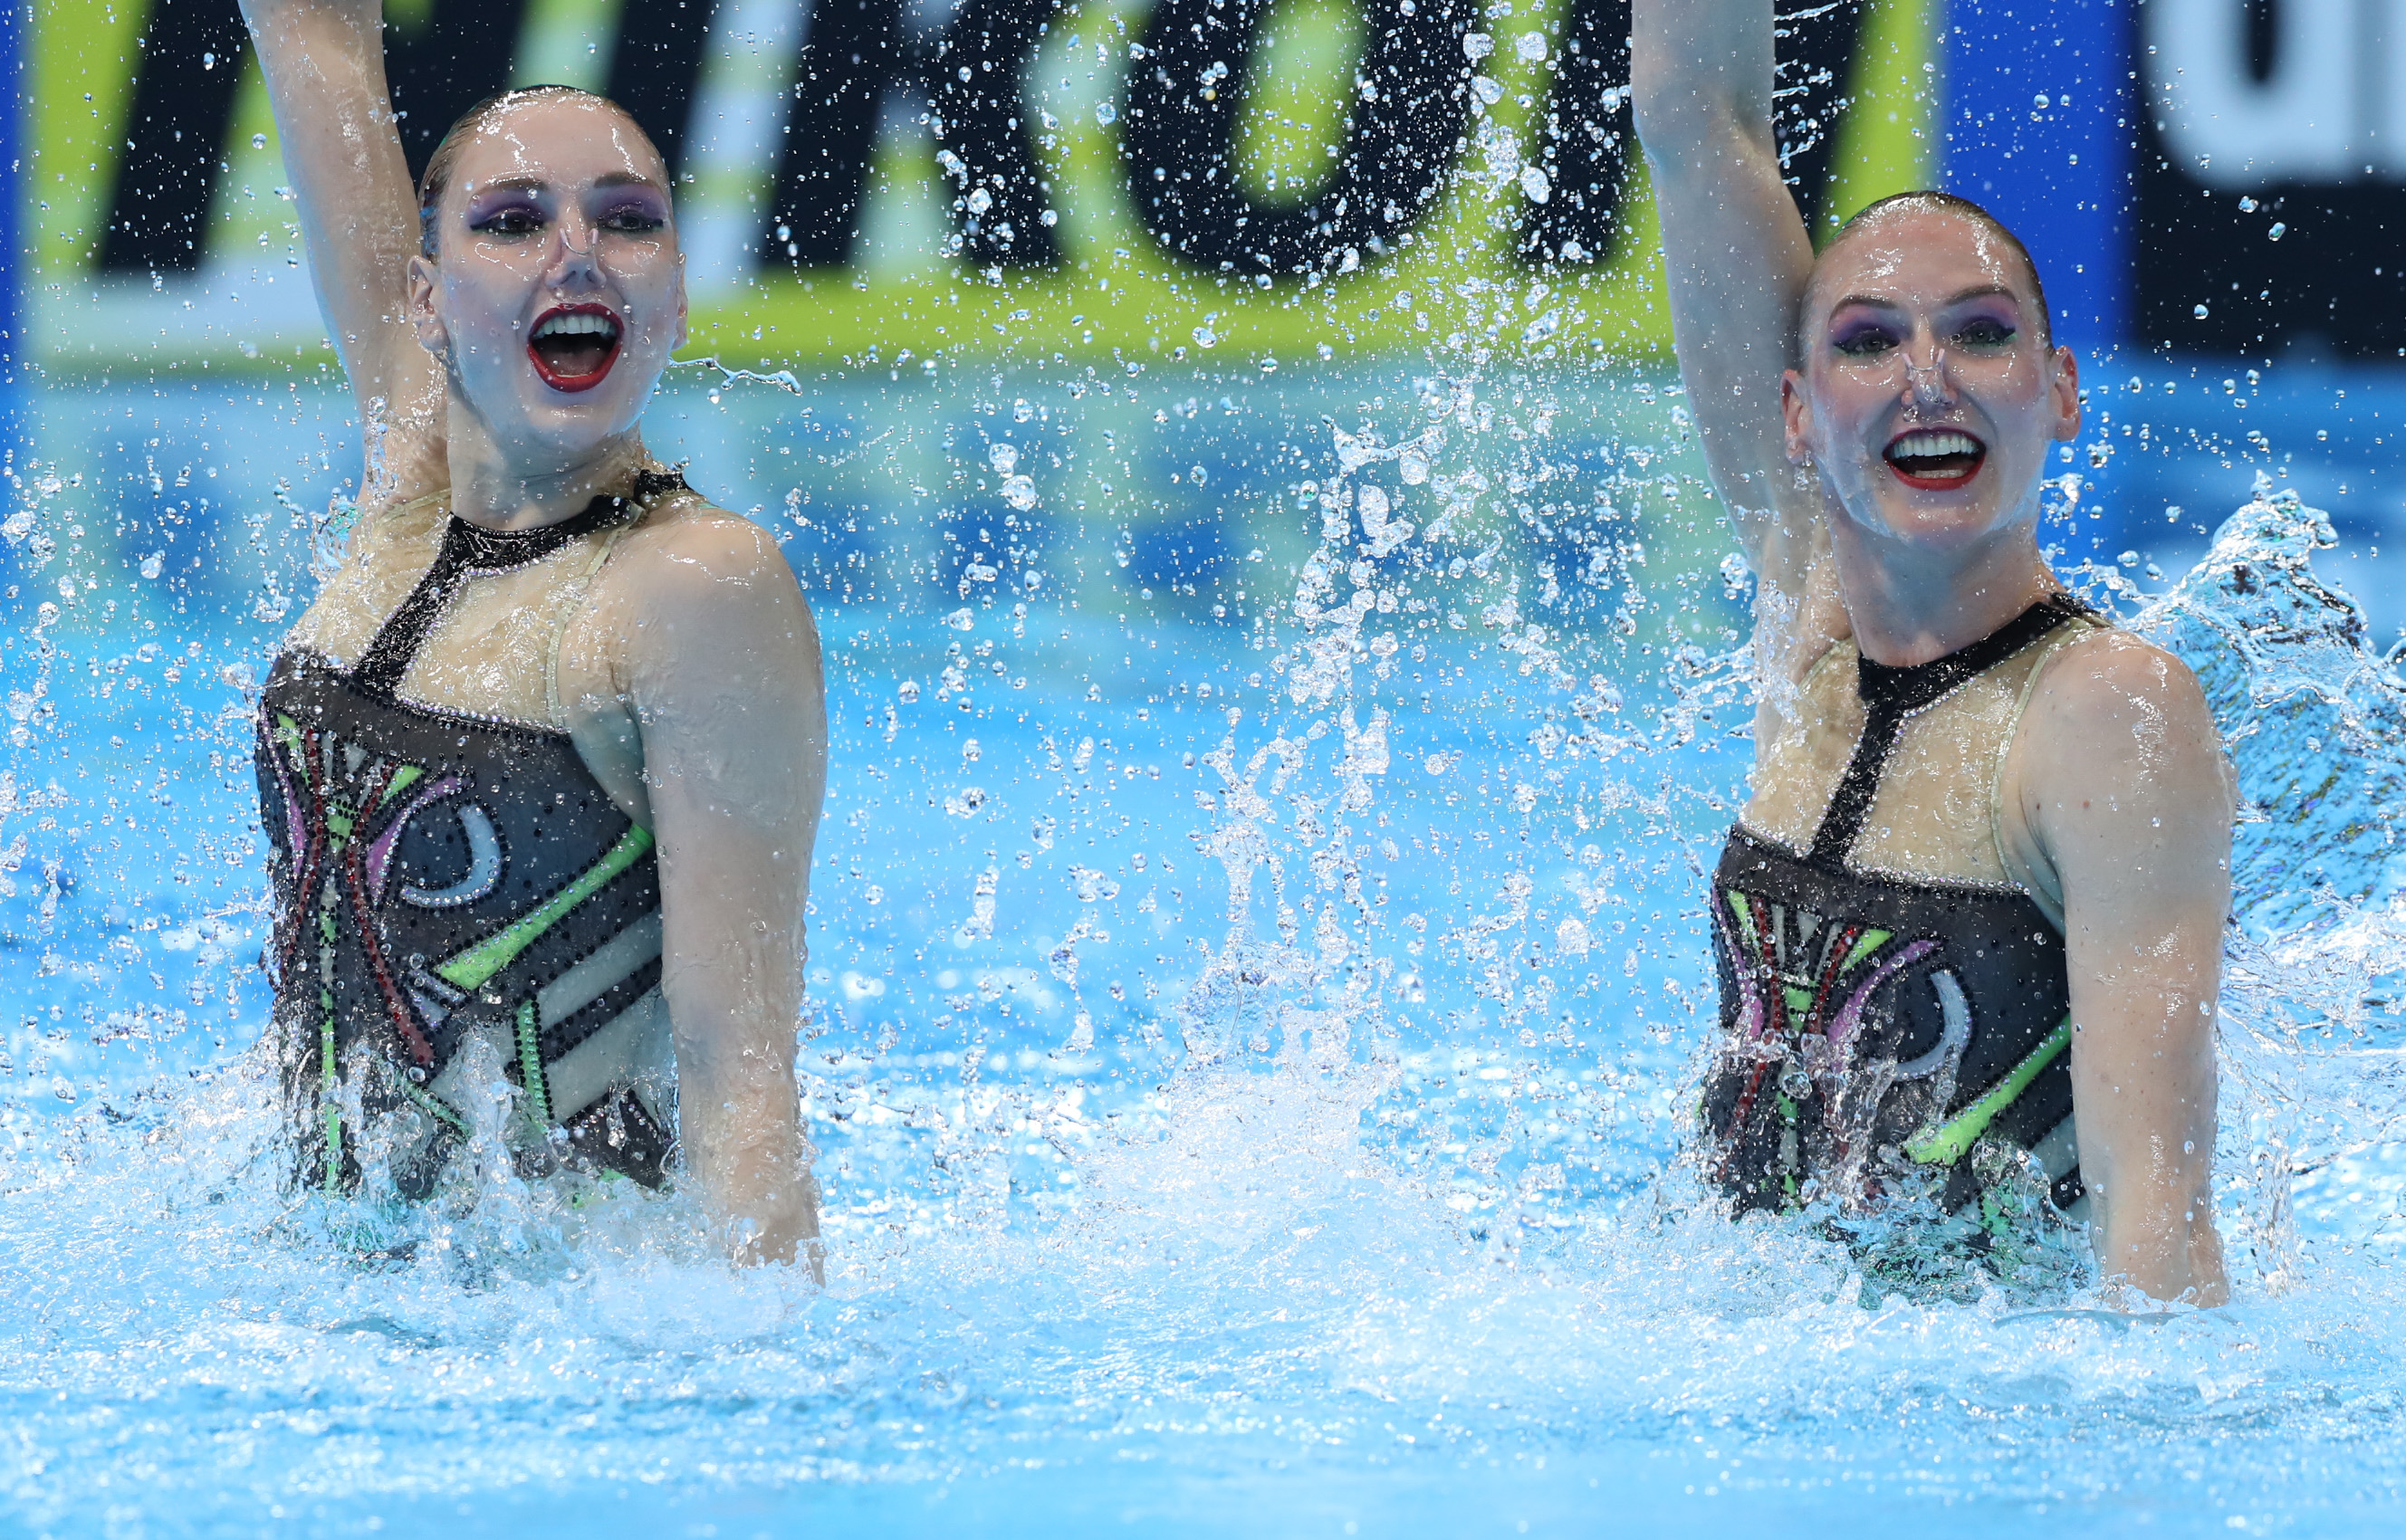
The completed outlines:
{"type": "Polygon", "coordinates": [[[1470,60],[1468,0],[1369,0],[1369,43],[1335,173],[1302,205],[1237,188],[1246,53],[1273,0],[1162,0],[1128,70],[1119,154],[1152,236],[1203,267],[1304,272],[1400,231],[1453,166],[1470,60]],[[1208,79],[1205,79],[1208,77],[1208,79]]]}

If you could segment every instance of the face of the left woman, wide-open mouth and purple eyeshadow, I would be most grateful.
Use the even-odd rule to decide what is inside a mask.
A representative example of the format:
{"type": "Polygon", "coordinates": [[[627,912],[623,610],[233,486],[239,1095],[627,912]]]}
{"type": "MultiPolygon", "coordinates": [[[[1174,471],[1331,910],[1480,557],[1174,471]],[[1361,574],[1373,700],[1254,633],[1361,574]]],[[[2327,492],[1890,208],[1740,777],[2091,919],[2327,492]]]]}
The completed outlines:
{"type": "Polygon", "coordinates": [[[411,260],[419,339],[529,474],[573,469],[642,416],[686,342],[669,171],[604,101],[515,99],[481,123],[411,260]]]}

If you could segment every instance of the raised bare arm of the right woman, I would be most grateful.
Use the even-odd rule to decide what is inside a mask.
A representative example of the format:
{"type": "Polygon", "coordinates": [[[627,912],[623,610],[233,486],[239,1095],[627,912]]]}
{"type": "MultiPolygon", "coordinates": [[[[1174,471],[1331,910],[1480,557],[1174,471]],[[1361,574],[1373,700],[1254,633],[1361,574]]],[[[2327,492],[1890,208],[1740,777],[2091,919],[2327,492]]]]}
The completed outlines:
{"type": "Polygon", "coordinates": [[[1804,590],[1819,486],[1797,488],[1780,373],[1812,241],[1771,130],[1771,0],[1636,0],[1634,94],[1703,460],[1756,578],[1804,590]]]}

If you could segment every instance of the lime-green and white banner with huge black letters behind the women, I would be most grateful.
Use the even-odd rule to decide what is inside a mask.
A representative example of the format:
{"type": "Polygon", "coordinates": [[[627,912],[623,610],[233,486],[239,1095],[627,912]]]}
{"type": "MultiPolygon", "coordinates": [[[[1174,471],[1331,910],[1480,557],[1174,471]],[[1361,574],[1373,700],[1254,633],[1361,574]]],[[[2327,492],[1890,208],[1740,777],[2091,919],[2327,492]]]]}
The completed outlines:
{"type": "MultiPolygon", "coordinates": [[[[322,363],[233,0],[26,17],[38,356],[322,363]]],[[[731,363],[1359,356],[1432,342],[1398,294],[1540,274],[1583,296],[1561,349],[1667,344],[1626,0],[392,0],[387,19],[414,166],[508,84],[623,101],[678,180],[695,344],[731,363]]],[[[1809,217],[1939,173],[1922,0],[1802,10],[1783,58],[1809,217]]]]}

